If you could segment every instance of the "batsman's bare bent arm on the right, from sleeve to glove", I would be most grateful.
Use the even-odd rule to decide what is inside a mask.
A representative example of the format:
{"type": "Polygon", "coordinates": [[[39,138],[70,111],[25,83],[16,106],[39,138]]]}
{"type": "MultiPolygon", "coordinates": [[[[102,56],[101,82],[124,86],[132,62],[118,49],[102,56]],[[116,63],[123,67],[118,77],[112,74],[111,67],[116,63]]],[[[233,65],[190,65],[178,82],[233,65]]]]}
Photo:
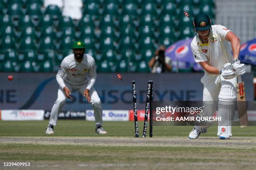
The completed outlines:
{"type": "Polygon", "coordinates": [[[237,59],[240,52],[241,43],[239,38],[232,32],[229,31],[225,39],[231,43],[232,51],[233,51],[233,60],[237,59]]]}

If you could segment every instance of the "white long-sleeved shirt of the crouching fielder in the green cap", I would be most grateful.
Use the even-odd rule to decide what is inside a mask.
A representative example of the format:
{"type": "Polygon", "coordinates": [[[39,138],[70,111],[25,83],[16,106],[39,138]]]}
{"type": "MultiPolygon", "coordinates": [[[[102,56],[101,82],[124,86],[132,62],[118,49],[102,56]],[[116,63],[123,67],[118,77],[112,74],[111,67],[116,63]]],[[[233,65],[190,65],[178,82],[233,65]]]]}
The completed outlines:
{"type": "Polygon", "coordinates": [[[74,54],[68,55],[62,60],[56,75],[57,82],[62,89],[66,86],[65,82],[68,82],[72,85],[87,83],[87,89],[91,90],[96,77],[95,60],[88,54],[84,54],[81,62],[75,60],[74,54]]]}

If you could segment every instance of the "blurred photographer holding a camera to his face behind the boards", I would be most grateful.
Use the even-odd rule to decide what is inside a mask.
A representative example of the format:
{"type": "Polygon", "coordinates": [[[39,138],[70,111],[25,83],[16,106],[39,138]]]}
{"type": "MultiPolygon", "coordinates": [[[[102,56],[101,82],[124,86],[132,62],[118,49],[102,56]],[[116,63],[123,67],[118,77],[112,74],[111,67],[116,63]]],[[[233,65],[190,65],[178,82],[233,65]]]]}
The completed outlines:
{"type": "Polygon", "coordinates": [[[172,60],[165,56],[165,47],[161,45],[155,52],[154,57],[148,62],[152,73],[171,72],[172,60]]]}

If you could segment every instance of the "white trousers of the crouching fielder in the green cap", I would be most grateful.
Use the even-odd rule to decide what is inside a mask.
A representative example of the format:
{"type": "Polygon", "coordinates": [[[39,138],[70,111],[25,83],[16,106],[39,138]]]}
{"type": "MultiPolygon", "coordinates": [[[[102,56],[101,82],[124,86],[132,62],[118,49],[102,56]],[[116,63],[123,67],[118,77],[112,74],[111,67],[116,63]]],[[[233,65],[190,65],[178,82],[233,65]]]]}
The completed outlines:
{"type": "MultiPolygon", "coordinates": [[[[82,85],[71,85],[65,82],[66,87],[72,92],[73,90],[78,90],[81,95],[84,95],[84,90],[86,90],[87,83],[82,85]]],[[[100,101],[100,97],[94,87],[90,90],[90,97],[91,97],[91,105],[94,108],[94,116],[96,126],[100,126],[102,124],[102,104],[100,101]]],[[[66,103],[67,96],[61,87],[58,90],[58,98],[54,102],[54,105],[51,109],[51,116],[49,120],[49,124],[56,126],[58,120],[58,114],[61,111],[62,107],[66,103]]]]}

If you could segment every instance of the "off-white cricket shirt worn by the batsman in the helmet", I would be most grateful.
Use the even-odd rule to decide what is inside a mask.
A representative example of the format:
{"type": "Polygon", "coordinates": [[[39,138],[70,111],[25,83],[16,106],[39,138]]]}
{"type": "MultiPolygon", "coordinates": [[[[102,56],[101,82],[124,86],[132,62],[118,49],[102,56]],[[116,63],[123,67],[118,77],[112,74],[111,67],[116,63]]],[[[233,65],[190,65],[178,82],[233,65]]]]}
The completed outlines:
{"type": "MultiPolygon", "coordinates": [[[[212,36],[205,44],[195,36],[191,42],[195,61],[208,61],[209,65],[218,69],[222,68],[225,63],[232,62],[231,45],[225,39],[229,31],[222,25],[212,25],[212,36]]],[[[205,73],[207,74],[207,72],[205,73]]]]}

